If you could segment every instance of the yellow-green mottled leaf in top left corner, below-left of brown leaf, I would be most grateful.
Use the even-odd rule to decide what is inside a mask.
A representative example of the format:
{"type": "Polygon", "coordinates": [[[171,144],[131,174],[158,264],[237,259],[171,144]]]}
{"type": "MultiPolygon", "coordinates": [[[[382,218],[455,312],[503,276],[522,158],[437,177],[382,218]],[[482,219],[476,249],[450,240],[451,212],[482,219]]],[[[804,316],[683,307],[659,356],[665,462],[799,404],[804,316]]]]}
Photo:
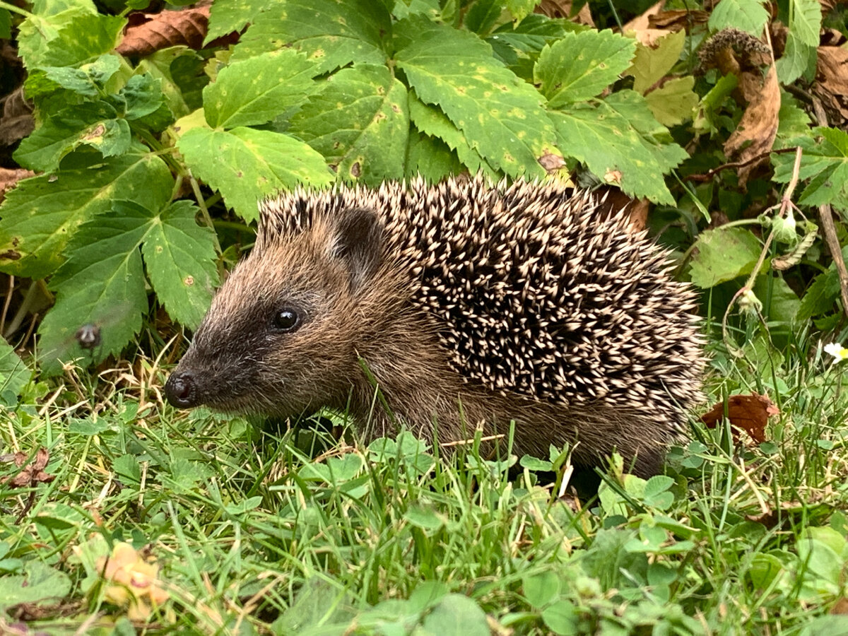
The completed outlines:
{"type": "Polygon", "coordinates": [[[20,56],[27,69],[77,66],[111,52],[126,20],[70,9],[47,18],[29,16],[21,24],[20,56]]]}

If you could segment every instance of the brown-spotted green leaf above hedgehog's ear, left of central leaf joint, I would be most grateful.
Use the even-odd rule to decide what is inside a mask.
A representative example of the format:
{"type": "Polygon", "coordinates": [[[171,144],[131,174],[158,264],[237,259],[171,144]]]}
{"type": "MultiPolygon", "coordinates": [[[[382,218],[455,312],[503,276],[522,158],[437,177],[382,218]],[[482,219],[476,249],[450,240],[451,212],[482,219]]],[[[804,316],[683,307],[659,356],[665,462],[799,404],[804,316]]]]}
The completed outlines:
{"type": "Polygon", "coordinates": [[[406,87],[385,66],[371,64],[331,75],[288,129],[345,181],[374,185],[404,176],[409,131],[406,87]]]}

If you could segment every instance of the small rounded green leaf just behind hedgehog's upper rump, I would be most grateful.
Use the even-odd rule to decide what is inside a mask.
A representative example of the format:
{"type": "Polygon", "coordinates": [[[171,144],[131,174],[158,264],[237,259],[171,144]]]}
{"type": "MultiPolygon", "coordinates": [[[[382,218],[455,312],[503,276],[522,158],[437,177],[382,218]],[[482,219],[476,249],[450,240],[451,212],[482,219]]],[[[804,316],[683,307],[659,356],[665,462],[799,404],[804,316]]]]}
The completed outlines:
{"type": "Polygon", "coordinates": [[[709,289],[754,271],[762,245],[743,227],[719,227],[701,232],[695,249],[690,272],[692,282],[701,289],[709,289]]]}

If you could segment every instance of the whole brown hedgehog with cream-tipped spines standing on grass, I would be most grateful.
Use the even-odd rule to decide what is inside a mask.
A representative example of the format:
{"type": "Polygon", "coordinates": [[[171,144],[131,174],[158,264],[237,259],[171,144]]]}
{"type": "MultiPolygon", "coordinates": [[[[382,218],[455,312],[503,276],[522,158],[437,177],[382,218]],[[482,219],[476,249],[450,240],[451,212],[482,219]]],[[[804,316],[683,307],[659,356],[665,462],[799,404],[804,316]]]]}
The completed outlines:
{"type": "Polygon", "coordinates": [[[165,385],[171,404],[342,411],[445,448],[660,471],[700,401],[697,297],[667,251],[561,184],[385,182],[259,204],[254,248],[165,385]],[[503,446],[501,445],[504,444],[503,446]]]}

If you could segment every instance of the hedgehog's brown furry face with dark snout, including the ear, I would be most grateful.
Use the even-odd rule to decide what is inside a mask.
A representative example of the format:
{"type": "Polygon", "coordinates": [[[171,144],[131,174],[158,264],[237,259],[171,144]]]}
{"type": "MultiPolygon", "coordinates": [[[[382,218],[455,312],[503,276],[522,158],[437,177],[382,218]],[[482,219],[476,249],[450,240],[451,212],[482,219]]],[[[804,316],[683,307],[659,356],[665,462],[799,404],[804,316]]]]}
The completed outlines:
{"type": "Polygon", "coordinates": [[[167,384],[171,404],[298,416],[343,407],[366,338],[362,298],[380,266],[372,212],[265,244],[237,266],[212,301],[167,384]]]}

